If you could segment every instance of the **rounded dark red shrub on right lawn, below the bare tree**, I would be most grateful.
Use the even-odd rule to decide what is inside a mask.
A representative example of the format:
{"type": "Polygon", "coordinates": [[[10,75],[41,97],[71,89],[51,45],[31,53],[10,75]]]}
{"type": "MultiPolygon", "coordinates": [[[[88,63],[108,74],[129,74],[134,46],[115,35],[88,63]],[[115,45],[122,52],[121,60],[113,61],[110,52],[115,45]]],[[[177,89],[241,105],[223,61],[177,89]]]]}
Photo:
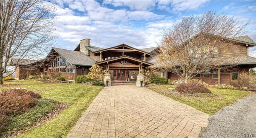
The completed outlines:
{"type": "Polygon", "coordinates": [[[204,85],[197,82],[181,83],[176,87],[180,93],[211,93],[204,85]]]}

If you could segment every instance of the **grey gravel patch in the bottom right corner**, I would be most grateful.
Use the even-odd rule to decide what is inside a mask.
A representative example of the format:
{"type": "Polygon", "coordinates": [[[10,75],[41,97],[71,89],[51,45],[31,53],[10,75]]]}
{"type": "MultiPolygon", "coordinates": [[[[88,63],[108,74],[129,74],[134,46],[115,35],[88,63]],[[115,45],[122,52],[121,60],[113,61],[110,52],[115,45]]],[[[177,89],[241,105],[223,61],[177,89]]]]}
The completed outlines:
{"type": "Polygon", "coordinates": [[[256,93],[210,115],[201,138],[244,138],[256,135],[256,93]],[[244,134],[247,134],[245,136],[244,134]]]}

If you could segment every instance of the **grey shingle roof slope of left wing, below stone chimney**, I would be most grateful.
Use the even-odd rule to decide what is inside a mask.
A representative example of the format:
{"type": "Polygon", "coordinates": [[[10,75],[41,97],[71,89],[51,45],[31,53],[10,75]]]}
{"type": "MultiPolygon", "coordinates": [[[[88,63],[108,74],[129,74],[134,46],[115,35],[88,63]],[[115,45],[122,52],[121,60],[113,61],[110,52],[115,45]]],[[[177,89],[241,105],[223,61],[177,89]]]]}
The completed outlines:
{"type": "Polygon", "coordinates": [[[95,63],[95,60],[90,56],[85,55],[80,51],[71,51],[66,49],[59,49],[53,47],[56,52],[58,52],[61,56],[66,58],[68,62],[72,65],[84,65],[84,66],[92,66],[95,63]]]}

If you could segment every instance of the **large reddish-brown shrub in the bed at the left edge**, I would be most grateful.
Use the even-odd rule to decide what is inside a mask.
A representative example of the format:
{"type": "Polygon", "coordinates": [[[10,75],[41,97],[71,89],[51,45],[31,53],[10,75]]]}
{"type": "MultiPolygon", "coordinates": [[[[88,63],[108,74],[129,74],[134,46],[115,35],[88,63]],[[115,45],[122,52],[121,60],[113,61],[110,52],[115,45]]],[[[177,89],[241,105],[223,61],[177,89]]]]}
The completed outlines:
{"type": "Polygon", "coordinates": [[[41,98],[41,95],[26,89],[3,89],[0,98],[1,113],[10,116],[26,112],[36,105],[35,100],[41,98]]]}

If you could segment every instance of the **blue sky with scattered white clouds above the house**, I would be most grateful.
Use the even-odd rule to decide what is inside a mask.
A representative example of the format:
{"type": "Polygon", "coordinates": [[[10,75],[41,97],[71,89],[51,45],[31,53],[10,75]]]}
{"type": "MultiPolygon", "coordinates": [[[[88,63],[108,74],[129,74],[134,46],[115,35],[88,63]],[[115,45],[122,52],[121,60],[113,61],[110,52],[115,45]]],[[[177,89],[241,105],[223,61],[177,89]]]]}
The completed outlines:
{"type": "MultiPolygon", "coordinates": [[[[156,47],[162,31],[171,29],[183,16],[218,10],[235,16],[240,23],[250,21],[248,35],[256,41],[256,0],[57,0],[57,44],[54,47],[74,50],[81,39],[91,45],[108,48],[125,43],[142,49],[156,47]]],[[[256,47],[249,49],[256,57],[256,47]]]]}

